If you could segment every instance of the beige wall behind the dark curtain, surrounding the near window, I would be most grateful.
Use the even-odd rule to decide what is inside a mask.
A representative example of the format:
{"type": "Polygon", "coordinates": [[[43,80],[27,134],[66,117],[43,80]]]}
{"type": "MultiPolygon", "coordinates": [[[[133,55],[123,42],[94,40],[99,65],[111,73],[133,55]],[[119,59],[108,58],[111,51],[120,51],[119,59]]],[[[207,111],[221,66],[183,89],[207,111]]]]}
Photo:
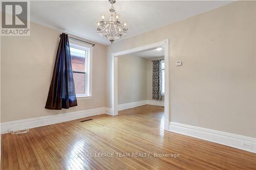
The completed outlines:
{"type": "Polygon", "coordinates": [[[71,109],[45,109],[59,33],[31,23],[30,36],[1,37],[1,122],[105,106],[106,46],[96,44],[93,98],[71,109]]]}

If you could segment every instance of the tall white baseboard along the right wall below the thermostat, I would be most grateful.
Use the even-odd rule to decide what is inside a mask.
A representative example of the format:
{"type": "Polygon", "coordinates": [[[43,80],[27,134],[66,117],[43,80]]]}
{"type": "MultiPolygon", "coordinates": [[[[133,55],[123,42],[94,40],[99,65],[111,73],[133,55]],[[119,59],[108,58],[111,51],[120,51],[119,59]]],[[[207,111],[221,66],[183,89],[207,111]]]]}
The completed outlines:
{"type": "Polygon", "coordinates": [[[169,131],[256,153],[256,138],[253,137],[184,125],[175,122],[169,123],[169,131]]]}

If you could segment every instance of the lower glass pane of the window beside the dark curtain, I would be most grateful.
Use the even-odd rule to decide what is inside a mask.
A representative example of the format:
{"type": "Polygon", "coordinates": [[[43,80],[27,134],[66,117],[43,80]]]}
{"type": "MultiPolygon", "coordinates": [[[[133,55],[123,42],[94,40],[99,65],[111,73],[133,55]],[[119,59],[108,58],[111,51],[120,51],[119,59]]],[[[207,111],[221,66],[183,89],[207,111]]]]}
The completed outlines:
{"type": "Polygon", "coordinates": [[[86,93],[86,91],[84,89],[85,80],[86,80],[85,76],[86,76],[86,74],[84,74],[84,73],[73,72],[76,94],[86,93]]]}

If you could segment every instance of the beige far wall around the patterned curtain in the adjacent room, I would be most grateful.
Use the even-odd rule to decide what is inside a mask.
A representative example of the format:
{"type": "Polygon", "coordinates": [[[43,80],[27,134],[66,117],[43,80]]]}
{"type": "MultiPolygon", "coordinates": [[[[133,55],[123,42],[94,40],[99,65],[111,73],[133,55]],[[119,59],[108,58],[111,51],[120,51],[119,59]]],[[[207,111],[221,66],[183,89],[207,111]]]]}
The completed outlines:
{"type": "MultiPolygon", "coordinates": [[[[156,57],[152,59],[147,59],[146,61],[146,100],[152,99],[152,77],[153,77],[153,63],[154,60],[161,60],[164,57],[156,57]]],[[[162,99],[164,101],[164,99],[162,99]]]]}

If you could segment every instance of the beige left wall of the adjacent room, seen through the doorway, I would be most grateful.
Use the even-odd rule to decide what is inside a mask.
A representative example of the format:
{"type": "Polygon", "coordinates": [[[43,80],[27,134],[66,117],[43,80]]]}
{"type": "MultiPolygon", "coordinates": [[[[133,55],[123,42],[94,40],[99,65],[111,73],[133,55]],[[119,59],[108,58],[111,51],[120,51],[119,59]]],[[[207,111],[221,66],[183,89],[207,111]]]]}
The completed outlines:
{"type": "Polygon", "coordinates": [[[118,57],[118,104],[146,100],[146,59],[118,57]]]}

